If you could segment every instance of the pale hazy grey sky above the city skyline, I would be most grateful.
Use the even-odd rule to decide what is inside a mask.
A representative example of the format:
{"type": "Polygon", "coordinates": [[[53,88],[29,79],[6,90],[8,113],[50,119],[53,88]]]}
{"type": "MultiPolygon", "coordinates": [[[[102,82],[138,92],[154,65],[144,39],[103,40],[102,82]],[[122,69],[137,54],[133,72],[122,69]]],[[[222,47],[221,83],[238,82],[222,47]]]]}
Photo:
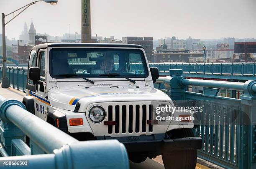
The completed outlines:
{"type": "MultiPolygon", "coordinates": [[[[33,0],[0,0],[0,13],[33,0]]],[[[56,6],[38,2],[8,23],[8,38],[19,37],[31,18],[37,33],[62,36],[81,32],[81,0],[59,0],[56,6]]],[[[256,0],[91,0],[92,36],[189,36],[256,38],[256,0]]],[[[6,18],[8,20],[8,17],[6,18]]],[[[2,21],[1,21],[2,22],[2,21]]],[[[2,27],[0,27],[2,32],[2,27]]]]}

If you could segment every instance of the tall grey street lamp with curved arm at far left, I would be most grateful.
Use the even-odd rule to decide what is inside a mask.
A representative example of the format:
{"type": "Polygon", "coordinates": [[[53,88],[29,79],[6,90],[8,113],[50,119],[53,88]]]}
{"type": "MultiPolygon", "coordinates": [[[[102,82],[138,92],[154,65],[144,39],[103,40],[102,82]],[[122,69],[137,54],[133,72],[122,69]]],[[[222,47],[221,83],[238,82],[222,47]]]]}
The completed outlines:
{"type": "Polygon", "coordinates": [[[2,76],[2,82],[1,82],[1,86],[2,88],[7,88],[9,87],[9,81],[8,78],[6,76],[6,42],[5,42],[5,25],[7,25],[10,21],[12,21],[15,17],[17,17],[18,15],[20,15],[21,12],[23,12],[24,10],[26,10],[28,7],[30,7],[31,5],[35,4],[36,2],[46,2],[46,3],[50,3],[51,5],[56,5],[58,0],[37,0],[34,2],[29,3],[28,5],[25,5],[23,7],[20,7],[18,10],[21,10],[17,15],[14,14],[14,12],[17,12],[18,10],[15,10],[13,12],[10,12],[9,14],[5,15],[4,13],[2,13],[2,31],[3,31],[3,76],[2,76]],[[5,17],[12,14],[13,13],[13,18],[10,19],[8,22],[5,23],[5,17]]]}

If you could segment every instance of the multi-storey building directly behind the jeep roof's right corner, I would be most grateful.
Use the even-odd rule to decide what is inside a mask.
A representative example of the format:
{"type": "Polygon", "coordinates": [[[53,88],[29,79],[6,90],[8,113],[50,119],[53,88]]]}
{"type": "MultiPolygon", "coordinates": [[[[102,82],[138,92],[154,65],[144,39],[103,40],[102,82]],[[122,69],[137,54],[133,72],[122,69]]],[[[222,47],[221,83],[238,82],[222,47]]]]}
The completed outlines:
{"type": "Polygon", "coordinates": [[[153,62],[153,37],[123,37],[122,41],[123,43],[130,43],[143,46],[146,52],[148,62],[153,62]]]}

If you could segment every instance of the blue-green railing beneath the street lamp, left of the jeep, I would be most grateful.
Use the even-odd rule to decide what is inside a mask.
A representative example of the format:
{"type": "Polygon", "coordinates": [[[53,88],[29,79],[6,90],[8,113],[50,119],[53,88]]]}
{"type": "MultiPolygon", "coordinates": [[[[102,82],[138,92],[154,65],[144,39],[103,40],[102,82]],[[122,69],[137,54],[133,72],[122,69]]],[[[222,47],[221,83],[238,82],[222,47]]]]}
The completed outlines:
{"type": "MultiPolygon", "coordinates": [[[[9,86],[26,92],[28,67],[14,67],[7,66],[7,77],[9,79],[9,86]]],[[[3,67],[0,66],[0,79],[2,79],[3,67]]]]}

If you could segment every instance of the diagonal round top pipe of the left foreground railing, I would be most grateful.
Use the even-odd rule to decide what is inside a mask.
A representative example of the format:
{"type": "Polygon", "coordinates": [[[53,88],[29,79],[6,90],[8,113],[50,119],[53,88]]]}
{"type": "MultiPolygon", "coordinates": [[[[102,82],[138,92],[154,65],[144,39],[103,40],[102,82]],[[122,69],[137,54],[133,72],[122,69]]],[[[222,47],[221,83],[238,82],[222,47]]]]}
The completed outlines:
{"type": "Polygon", "coordinates": [[[46,123],[18,105],[8,107],[5,116],[46,153],[52,153],[54,149],[59,149],[65,144],[78,142],[77,139],[46,123]]]}

